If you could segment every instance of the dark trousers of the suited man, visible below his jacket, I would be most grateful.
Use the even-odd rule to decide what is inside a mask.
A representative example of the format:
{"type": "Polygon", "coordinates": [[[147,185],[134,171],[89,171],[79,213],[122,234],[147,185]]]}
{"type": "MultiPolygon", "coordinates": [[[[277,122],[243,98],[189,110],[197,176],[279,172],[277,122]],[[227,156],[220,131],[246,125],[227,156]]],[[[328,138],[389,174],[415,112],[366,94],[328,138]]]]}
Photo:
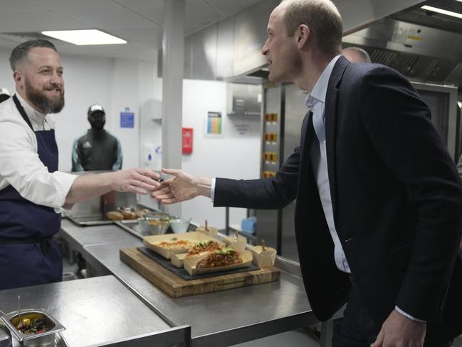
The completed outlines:
{"type": "MultiPolygon", "coordinates": [[[[369,347],[377,338],[380,327],[359,302],[352,286],[343,318],[334,321],[334,347],[369,347]]],[[[450,347],[452,341],[424,343],[424,347],[450,347]]]]}

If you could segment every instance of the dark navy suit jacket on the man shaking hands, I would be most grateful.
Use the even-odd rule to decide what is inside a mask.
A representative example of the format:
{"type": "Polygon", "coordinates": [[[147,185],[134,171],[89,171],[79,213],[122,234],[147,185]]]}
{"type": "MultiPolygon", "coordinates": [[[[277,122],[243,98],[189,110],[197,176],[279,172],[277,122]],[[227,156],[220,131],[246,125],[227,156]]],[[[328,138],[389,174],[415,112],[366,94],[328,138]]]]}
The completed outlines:
{"type": "MultiPolygon", "coordinates": [[[[325,100],[327,170],[359,299],[377,328],[397,305],[428,321],[427,337],[451,337],[462,332],[462,319],[454,318],[462,312],[462,184],[430,117],[396,71],[343,57],[335,63],[325,100]]],[[[345,304],[350,281],[335,266],[310,160],[314,138],[308,114],[300,147],[276,177],[217,178],[214,205],[278,209],[296,198],[305,289],[317,317],[327,320],[345,304]]]]}

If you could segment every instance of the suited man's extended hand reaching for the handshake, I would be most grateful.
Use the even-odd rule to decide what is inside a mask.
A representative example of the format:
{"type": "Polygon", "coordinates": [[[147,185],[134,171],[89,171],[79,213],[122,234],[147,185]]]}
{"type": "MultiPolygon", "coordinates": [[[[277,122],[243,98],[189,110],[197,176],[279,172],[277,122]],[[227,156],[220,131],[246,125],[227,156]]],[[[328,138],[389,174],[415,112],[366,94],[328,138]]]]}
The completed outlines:
{"type": "Polygon", "coordinates": [[[162,204],[174,204],[199,195],[210,197],[211,178],[195,177],[174,169],[162,169],[162,172],[173,176],[161,182],[160,187],[152,192],[152,197],[162,204]]]}

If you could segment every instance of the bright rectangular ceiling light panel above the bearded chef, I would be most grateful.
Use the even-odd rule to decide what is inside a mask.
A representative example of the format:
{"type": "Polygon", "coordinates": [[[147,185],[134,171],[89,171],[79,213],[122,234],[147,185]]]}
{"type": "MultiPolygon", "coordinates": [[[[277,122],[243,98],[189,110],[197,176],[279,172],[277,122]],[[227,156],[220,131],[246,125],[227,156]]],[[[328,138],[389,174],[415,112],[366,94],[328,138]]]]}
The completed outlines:
{"type": "Polygon", "coordinates": [[[43,35],[58,38],[60,40],[74,43],[75,45],[118,45],[127,43],[108,33],[103,33],[96,29],[89,30],[57,30],[57,31],[42,31],[43,35]]]}

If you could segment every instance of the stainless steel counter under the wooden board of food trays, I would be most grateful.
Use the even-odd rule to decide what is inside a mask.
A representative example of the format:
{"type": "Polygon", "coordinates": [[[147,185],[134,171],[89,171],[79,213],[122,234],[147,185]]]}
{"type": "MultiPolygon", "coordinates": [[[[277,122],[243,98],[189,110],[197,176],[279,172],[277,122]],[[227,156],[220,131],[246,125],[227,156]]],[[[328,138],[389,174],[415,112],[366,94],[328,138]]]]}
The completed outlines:
{"type": "Polygon", "coordinates": [[[318,322],[298,276],[283,272],[269,284],[173,299],[120,260],[119,249],[142,246],[137,237],[115,225],[81,228],[65,220],[61,234],[81,244],[98,273],[109,271],[172,326],[190,325],[192,346],[229,346],[318,322]]]}

